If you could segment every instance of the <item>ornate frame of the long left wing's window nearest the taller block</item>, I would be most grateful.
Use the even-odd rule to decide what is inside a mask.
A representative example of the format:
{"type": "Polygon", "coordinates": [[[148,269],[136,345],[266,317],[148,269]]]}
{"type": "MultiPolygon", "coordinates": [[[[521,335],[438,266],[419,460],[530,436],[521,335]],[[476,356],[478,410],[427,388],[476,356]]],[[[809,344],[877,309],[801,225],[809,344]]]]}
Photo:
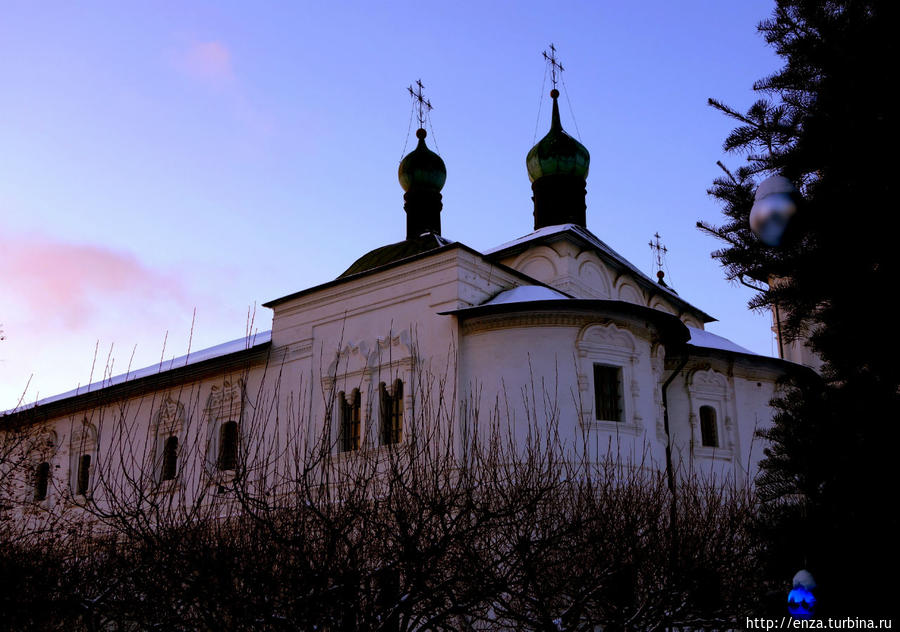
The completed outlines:
{"type": "Polygon", "coordinates": [[[246,424],[244,423],[244,403],[246,392],[244,380],[225,380],[221,385],[213,385],[206,400],[206,473],[210,485],[221,485],[234,480],[236,470],[219,469],[219,439],[222,426],[229,422],[238,425],[238,467],[246,458],[246,424]]]}

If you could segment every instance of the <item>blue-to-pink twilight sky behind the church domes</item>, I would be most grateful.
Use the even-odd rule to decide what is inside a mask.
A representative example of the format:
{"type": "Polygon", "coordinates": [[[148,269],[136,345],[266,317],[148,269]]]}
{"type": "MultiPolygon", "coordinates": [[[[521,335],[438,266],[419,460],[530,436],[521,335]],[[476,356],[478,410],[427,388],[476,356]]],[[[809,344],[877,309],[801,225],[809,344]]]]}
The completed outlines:
{"type": "MultiPolygon", "coordinates": [[[[183,355],[195,309],[193,349],[239,338],[254,304],[403,239],[418,78],[444,235],[487,249],[530,232],[550,42],[563,126],[591,152],[588,228],[651,275],[659,231],[708,329],[774,352],[695,228],[721,218],[716,161],[743,160],[706,100],[746,108],[779,67],[755,28],[771,0],[0,7],[0,410],[26,384],[34,401],[92,365],[97,380],[183,355]]],[[[252,327],[270,326],[257,307],[252,327]]]]}

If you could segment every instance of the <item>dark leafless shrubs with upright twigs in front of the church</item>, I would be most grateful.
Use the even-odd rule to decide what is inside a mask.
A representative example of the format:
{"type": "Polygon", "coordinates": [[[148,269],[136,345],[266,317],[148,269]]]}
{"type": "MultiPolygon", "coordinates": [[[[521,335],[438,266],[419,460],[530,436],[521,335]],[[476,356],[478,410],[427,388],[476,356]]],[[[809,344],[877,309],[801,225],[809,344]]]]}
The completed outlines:
{"type": "MultiPolygon", "coordinates": [[[[585,437],[561,437],[543,386],[526,389],[516,422],[499,404],[460,410],[449,368],[413,373],[402,442],[350,452],[332,431],[333,387],[323,424],[305,412],[314,389],[282,393],[278,366],[224,376],[245,385],[227,473],[197,384],[96,409],[110,447],[91,493],[60,484],[41,514],[21,485],[3,495],[20,519],[0,531],[0,626],[649,630],[729,627],[752,608],[752,493],[684,475],[676,503],[653,464],[590,461],[585,437]],[[142,406],[155,419],[171,400],[184,424],[175,482],[141,421],[142,406]]],[[[0,445],[0,481],[30,462],[9,437],[20,443],[0,445]]]]}

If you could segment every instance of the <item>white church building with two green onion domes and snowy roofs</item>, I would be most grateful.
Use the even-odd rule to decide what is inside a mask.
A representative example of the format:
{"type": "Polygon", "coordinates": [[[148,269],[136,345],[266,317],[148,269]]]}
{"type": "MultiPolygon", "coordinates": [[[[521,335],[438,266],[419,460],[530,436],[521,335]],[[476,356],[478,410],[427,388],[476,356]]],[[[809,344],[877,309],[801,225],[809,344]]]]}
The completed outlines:
{"type": "Polygon", "coordinates": [[[709,314],[589,230],[589,154],[551,96],[527,156],[533,232],[485,252],[443,237],[446,169],[418,130],[399,169],[406,238],[265,303],[271,332],[0,415],[0,432],[42,437],[21,493],[91,494],[125,435],[136,466],[176,488],[221,485],[298,434],[352,458],[402,446],[417,424],[464,441],[488,421],[519,436],[551,419],[592,458],[752,478],[792,364],[705,331],[709,314]]]}

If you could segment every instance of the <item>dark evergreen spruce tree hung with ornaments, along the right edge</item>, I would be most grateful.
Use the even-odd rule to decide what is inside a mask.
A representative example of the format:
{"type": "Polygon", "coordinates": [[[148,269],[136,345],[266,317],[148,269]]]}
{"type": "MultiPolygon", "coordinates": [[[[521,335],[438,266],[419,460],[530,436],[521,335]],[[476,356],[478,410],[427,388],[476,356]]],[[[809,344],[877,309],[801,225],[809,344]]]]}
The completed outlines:
{"type": "Polygon", "coordinates": [[[699,227],[726,245],[726,276],[777,306],[786,339],[808,337],[822,380],[794,379],[776,402],[758,489],[772,578],[808,568],[821,614],[898,609],[900,232],[894,0],[777,0],[758,26],[784,62],[756,82],[725,140],[747,162],[713,183],[726,221],[699,227]],[[789,178],[803,195],[786,243],[750,231],[758,183],[789,178]]]}

